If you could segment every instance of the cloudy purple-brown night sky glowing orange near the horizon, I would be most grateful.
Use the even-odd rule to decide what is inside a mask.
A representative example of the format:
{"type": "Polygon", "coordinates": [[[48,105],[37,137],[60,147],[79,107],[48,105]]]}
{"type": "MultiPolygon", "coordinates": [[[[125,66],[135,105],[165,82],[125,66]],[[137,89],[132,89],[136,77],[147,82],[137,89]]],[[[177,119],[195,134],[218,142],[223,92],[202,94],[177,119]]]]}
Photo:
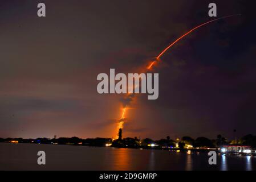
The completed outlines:
{"type": "MultiPolygon", "coordinates": [[[[0,1],[0,137],[115,137],[122,94],[99,73],[134,73],[204,23],[212,1],[0,1]],[[46,3],[46,17],[37,4],[46,3]]],[[[214,1],[218,17],[161,57],[159,98],[137,97],[124,137],[256,134],[253,1],[214,1]]]]}

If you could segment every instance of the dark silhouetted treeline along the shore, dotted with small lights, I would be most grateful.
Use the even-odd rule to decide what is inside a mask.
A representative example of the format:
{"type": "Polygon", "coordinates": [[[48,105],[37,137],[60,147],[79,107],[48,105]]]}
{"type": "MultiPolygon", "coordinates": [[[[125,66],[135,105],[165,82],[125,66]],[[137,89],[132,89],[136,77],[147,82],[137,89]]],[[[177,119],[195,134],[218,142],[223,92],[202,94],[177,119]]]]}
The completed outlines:
{"type": "Polygon", "coordinates": [[[127,147],[127,148],[200,148],[200,147],[221,147],[228,144],[246,145],[256,148],[256,136],[246,135],[240,139],[227,140],[221,135],[217,135],[216,139],[208,139],[205,137],[198,137],[193,139],[191,137],[182,137],[180,139],[170,139],[166,137],[160,140],[153,140],[150,138],[138,139],[135,138],[121,138],[111,139],[111,138],[87,138],[81,139],[78,137],[72,138],[36,138],[36,139],[23,139],[23,138],[0,138],[0,142],[9,143],[37,143],[37,144],[70,144],[70,145],[83,145],[83,146],[112,146],[112,147],[127,147]]]}

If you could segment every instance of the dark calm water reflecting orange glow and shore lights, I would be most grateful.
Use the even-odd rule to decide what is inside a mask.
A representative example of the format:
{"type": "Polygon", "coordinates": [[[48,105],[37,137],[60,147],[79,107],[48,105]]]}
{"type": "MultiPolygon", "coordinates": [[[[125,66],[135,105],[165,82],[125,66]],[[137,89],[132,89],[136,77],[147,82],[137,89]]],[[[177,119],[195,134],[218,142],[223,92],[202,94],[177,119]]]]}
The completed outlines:
{"type": "Polygon", "coordinates": [[[129,148],[0,143],[0,170],[256,170],[255,156],[217,156],[129,148]],[[46,165],[37,152],[46,152],[46,165]]]}

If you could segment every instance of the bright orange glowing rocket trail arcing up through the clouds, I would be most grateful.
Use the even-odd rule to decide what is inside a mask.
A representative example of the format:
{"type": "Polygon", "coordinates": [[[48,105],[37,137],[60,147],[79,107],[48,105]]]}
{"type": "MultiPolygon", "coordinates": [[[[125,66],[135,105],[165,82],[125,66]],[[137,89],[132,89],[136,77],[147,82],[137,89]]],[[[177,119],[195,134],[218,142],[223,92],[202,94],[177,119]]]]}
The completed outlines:
{"type": "MultiPolygon", "coordinates": [[[[192,28],[191,30],[189,30],[188,32],[186,32],[186,34],[182,35],[180,38],[176,39],[172,44],[170,44],[168,47],[166,47],[157,57],[156,57],[156,60],[152,61],[151,64],[149,64],[149,66],[147,67],[147,69],[151,69],[153,67],[153,65],[157,62],[157,60],[160,59],[160,57],[162,55],[164,55],[164,53],[166,51],[168,51],[169,48],[171,48],[172,46],[174,46],[174,44],[176,44],[178,41],[180,41],[182,38],[184,38],[185,36],[189,35],[191,32],[193,32],[194,30],[197,30],[197,28],[200,28],[202,26],[205,26],[206,24],[209,24],[209,23],[212,23],[212,22],[215,22],[217,20],[220,20],[220,19],[225,19],[225,18],[229,18],[229,17],[232,17],[232,16],[239,16],[241,14],[236,14],[236,15],[228,15],[228,16],[223,16],[221,18],[216,18],[216,19],[213,19],[213,20],[210,20],[208,22],[205,22],[205,23],[202,23],[200,24],[199,26],[197,27],[194,27],[192,28]]],[[[124,106],[124,109],[123,109],[123,114],[122,114],[122,118],[119,120],[119,128],[122,128],[123,129],[123,123],[124,123],[124,119],[125,119],[125,112],[127,110],[126,108],[127,106],[124,106]]]]}

